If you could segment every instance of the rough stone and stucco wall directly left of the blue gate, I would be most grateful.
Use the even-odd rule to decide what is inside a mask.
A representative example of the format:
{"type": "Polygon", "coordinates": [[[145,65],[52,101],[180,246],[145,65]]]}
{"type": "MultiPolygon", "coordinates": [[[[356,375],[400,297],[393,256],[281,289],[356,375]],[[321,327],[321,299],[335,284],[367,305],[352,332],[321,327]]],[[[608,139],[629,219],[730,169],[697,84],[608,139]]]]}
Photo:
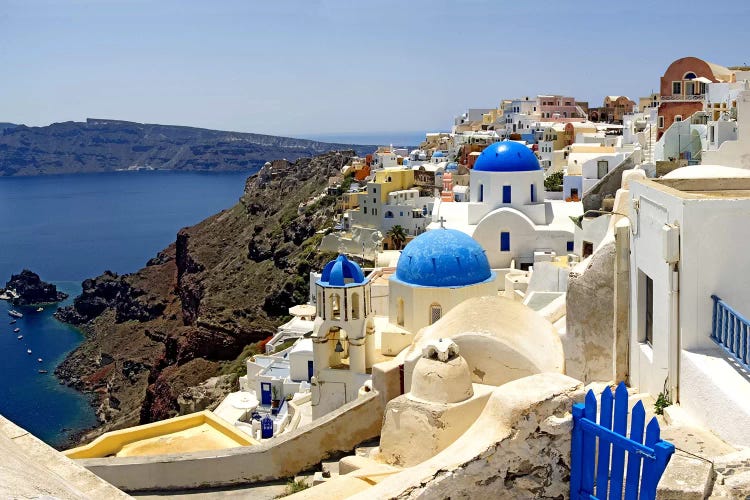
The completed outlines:
{"type": "Polygon", "coordinates": [[[552,373],[498,387],[453,445],[352,498],[567,497],[570,409],[583,394],[578,381],[552,373]]]}

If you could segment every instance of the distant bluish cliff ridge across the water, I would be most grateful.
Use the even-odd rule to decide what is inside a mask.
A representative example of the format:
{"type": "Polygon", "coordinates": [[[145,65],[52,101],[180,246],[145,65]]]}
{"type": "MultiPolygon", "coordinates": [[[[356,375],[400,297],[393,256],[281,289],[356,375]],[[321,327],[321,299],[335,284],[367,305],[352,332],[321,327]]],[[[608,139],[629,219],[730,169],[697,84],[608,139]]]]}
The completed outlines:
{"type": "Polygon", "coordinates": [[[89,118],[46,127],[0,124],[0,177],[166,169],[242,171],[275,158],[375,146],[89,118]]]}

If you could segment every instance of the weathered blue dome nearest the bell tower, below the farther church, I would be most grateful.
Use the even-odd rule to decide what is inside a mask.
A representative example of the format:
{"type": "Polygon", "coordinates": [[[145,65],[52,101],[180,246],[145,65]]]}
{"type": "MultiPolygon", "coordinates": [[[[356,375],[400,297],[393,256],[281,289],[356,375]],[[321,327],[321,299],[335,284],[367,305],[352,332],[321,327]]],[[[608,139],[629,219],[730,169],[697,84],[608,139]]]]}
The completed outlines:
{"type": "Polygon", "coordinates": [[[434,229],[414,238],[401,253],[395,276],[403,283],[429,287],[475,285],[492,278],[481,245],[455,229],[434,229]]]}

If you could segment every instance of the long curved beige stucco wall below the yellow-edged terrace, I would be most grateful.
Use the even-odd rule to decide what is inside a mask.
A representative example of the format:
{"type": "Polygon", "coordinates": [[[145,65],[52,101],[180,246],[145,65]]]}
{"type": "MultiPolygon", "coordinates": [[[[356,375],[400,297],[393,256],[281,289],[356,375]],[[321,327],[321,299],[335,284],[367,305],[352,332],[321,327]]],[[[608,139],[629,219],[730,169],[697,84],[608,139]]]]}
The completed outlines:
{"type": "Polygon", "coordinates": [[[378,436],[383,404],[369,393],[258,446],[221,451],[77,461],[125,491],[185,490],[272,481],[306,470],[378,436]]]}

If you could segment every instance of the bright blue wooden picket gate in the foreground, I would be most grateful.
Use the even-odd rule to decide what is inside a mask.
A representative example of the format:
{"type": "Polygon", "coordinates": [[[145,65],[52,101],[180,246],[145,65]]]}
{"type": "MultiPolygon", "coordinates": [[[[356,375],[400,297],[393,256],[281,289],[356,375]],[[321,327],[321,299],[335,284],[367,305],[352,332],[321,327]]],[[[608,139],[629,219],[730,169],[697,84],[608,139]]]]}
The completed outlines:
{"type": "Polygon", "coordinates": [[[656,485],[674,453],[674,445],[660,439],[656,417],[646,427],[644,443],[646,411],[643,403],[638,401],[633,407],[630,437],[627,437],[628,390],[622,382],[617,386],[614,398],[609,387],[602,392],[598,423],[596,406],[593,391],[586,394],[585,404],[573,405],[570,498],[656,498],[656,485]]]}

